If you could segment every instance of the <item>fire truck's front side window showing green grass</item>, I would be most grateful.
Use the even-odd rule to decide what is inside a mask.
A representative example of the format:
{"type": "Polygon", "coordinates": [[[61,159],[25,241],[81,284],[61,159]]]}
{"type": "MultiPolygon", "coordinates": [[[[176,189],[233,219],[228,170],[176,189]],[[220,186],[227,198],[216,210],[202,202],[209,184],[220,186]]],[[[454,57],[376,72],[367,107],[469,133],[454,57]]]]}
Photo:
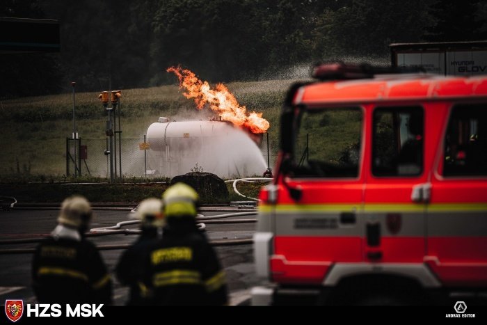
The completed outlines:
{"type": "Polygon", "coordinates": [[[358,177],[362,111],[309,110],[294,143],[296,177],[358,177]]]}

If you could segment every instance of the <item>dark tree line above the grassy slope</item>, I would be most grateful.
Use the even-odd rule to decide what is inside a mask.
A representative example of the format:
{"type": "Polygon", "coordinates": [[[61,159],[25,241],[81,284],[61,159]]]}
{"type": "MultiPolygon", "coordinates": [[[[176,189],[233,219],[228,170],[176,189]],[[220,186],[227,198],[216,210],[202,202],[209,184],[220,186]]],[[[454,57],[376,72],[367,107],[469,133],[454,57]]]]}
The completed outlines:
{"type": "Polygon", "coordinates": [[[392,42],[485,40],[487,4],[440,0],[5,0],[0,17],[58,19],[61,52],[0,55],[0,97],[174,83],[182,65],[246,81],[293,65],[389,59],[392,42]]]}

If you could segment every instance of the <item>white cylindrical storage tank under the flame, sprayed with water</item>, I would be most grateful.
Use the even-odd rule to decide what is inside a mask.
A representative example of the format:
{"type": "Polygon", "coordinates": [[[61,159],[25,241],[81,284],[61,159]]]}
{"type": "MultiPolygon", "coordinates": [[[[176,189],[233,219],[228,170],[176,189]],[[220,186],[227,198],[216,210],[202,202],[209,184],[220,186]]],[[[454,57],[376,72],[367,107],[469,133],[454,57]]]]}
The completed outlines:
{"type": "Polygon", "coordinates": [[[174,177],[205,171],[220,177],[262,175],[266,161],[246,134],[221,121],[170,121],[159,118],[147,129],[148,169],[174,177]]]}

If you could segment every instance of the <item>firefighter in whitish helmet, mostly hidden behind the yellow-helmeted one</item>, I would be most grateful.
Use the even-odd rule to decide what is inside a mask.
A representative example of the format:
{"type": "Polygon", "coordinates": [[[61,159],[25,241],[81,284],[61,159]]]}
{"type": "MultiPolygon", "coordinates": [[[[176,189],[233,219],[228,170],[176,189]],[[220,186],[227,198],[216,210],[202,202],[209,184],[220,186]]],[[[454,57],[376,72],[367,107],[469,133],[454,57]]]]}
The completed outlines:
{"type": "Polygon", "coordinates": [[[143,305],[143,257],[150,244],[157,239],[157,232],[163,225],[162,201],[157,198],[147,198],[141,202],[136,212],[136,218],[141,221],[141,236],[131,248],[127,249],[115,269],[117,278],[122,285],[130,287],[127,305],[143,305]]]}

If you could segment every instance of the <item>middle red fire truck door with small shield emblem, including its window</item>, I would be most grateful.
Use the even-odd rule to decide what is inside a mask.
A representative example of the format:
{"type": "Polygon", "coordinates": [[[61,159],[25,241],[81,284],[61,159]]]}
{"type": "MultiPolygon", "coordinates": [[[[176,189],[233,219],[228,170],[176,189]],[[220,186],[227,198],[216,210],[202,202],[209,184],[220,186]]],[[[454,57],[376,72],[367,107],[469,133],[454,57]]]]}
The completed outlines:
{"type": "MultiPolygon", "coordinates": [[[[364,206],[366,262],[423,262],[424,110],[376,107],[364,206]]],[[[371,143],[371,141],[367,141],[371,143]]]]}

